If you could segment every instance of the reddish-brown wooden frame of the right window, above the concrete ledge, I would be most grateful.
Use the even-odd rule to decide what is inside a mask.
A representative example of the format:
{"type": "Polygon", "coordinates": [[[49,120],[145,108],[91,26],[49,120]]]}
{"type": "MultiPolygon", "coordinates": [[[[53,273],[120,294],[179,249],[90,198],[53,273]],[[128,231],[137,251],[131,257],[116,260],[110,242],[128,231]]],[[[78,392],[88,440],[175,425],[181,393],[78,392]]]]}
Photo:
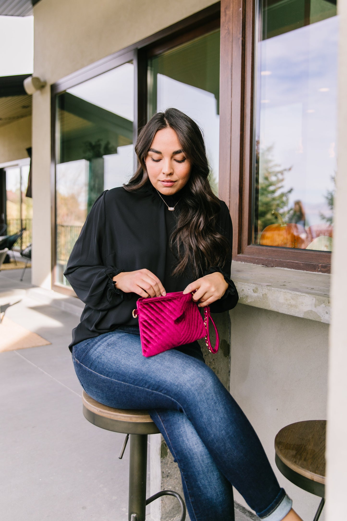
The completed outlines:
{"type": "Polygon", "coordinates": [[[251,244],[256,1],[221,2],[220,196],[233,220],[233,258],[329,273],[330,252],[251,244]]]}

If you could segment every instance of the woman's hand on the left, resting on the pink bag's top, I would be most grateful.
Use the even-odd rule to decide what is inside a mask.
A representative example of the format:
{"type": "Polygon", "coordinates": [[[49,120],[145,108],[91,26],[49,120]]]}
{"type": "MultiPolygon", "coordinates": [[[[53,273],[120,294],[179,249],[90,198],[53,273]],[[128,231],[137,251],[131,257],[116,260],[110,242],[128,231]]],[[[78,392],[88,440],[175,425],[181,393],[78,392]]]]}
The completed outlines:
{"type": "Polygon", "coordinates": [[[124,293],[136,293],[143,297],[166,295],[162,283],[149,269],[121,271],[112,280],[124,293]]]}

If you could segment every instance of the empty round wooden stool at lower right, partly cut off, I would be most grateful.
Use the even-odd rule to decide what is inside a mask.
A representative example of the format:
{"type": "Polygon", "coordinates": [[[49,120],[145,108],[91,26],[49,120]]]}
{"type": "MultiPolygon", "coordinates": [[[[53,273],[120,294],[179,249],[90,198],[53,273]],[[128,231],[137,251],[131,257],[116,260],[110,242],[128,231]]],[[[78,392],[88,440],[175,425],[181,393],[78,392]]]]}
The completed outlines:
{"type": "Polygon", "coordinates": [[[322,498],[314,521],[325,503],[325,432],[326,420],[298,421],[281,429],[275,438],[280,472],[294,485],[322,498]]]}

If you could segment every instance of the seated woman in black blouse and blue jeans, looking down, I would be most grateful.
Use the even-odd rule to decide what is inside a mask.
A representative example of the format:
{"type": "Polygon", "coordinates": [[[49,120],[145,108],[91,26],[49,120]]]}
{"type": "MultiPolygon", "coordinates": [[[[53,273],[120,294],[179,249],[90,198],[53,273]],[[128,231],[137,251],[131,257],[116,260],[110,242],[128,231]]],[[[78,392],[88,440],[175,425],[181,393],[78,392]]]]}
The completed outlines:
{"type": "Polygon", "coordinates": [[[152,117],[135,147],[130,182],[100,195],[65,272],[85,302],[73,363],[85,391],[147,409],[181,470],[192,521],[234,519],[232,484],[267,521],[298,521],[252,426],[197,342],[142,355],[139,296],[194,292],[200,307],[232,309],[232,222],[213,195],[201,131],[174,108],[152,117]]]}

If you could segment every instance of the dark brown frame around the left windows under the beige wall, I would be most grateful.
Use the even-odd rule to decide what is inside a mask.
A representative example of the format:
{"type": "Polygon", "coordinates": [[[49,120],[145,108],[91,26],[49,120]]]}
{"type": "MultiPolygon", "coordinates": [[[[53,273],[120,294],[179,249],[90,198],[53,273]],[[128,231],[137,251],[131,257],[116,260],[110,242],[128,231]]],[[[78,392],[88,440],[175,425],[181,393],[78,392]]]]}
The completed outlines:
{"type": "Polygon", "coordinates": [[[59,293],[76,296],[72,288],[62,286],[56,282],[56,155],[57,155],[57,94],[95,78],[104,72],[114,69],[130,60],[134,63],[134,143],[138,131],[147,121],[147,60],[162,52],[188,42],[213,29],[220,27],[221,3],[217,2],[172,26],[148,36],[121,51],[73,72],[51,86],[51,259],[52,259],[52,289],[59,293]]]}

